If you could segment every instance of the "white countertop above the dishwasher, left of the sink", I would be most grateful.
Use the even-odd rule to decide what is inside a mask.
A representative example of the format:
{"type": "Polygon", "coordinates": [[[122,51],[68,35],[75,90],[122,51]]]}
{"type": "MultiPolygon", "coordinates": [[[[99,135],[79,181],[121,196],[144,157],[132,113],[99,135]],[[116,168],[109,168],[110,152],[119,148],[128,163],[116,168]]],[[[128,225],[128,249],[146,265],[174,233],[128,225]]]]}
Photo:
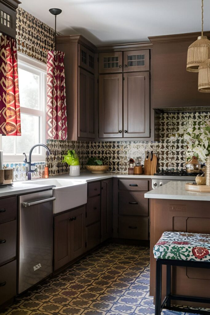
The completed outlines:
{"type": "Polygon", "coordinates": [[[0,197],[22,195],[24,193],[37,192],[52,187],[52,185],[29,185],[26,181],[15,181],[13,187],[0,188],[0,197]]]}

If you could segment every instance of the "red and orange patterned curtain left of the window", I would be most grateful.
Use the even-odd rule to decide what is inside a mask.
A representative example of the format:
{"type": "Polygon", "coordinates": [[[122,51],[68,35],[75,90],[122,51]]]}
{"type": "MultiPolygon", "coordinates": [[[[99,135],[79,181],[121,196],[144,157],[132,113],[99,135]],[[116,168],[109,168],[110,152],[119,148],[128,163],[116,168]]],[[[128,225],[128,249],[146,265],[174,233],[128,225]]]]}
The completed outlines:
{"type": "Polygon", "coordinates": [[[20,100],[16,40],[0,37],[0,134],[20,136],[20,100]]]}

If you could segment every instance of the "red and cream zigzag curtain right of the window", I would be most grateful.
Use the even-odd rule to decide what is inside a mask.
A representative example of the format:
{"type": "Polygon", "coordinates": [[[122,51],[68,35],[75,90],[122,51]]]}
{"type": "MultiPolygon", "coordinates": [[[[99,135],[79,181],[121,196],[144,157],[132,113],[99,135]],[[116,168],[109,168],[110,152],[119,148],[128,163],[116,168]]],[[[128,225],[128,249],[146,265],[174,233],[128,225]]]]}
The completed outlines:
{"type": "Polygon", "coordinates": [[[48,51],[47,58],[47,139],[67,138],[64,53],[48,51]]]}

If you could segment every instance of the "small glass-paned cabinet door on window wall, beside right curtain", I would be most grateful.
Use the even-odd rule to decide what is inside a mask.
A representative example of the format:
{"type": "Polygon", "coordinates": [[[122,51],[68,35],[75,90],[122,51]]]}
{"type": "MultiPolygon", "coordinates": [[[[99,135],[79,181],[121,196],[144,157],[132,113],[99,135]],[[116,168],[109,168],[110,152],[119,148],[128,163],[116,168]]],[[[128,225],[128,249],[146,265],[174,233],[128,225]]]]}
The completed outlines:
{"type": "Polygon", "coordinates": [[[79,66],[94,73],[95,56],[89,49],[79,44],[79,66]]]}

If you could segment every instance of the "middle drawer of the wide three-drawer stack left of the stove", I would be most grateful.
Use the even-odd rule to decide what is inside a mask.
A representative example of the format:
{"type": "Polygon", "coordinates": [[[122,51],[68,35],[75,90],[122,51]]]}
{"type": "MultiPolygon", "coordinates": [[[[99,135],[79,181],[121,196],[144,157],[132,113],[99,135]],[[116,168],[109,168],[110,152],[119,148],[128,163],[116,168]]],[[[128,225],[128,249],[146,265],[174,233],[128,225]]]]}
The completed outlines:
{"type": "Polygon", "coordinates": [[[119,192],[119,215],[149,215],[149,201],[144,192],[119,192]]]}

